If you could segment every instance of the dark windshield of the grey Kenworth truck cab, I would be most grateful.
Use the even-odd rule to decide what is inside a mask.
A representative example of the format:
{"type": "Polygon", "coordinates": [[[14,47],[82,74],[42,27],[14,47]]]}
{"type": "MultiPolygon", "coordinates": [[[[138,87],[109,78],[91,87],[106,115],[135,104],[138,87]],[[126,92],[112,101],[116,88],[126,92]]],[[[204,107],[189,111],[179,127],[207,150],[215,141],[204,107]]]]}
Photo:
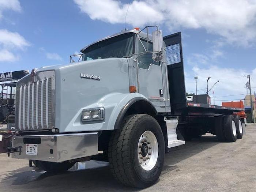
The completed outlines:
{"type": "Polygon", "coordinates": [[[134,33],[125,33],[97,42],[83,51],[83,61],[128,57],[134,53],[134,33]]]}

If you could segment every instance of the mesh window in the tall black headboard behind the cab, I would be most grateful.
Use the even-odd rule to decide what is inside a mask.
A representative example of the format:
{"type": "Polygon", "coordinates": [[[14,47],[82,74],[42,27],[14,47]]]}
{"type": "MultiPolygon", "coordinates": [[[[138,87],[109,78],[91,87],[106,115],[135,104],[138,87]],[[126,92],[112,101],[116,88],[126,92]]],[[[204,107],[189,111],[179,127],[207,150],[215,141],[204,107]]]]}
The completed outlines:
{"type": "Polygon", "coordinates": [[[180,63],[180,44],[174,44],[166,47],[167,65],[180,63]]]}

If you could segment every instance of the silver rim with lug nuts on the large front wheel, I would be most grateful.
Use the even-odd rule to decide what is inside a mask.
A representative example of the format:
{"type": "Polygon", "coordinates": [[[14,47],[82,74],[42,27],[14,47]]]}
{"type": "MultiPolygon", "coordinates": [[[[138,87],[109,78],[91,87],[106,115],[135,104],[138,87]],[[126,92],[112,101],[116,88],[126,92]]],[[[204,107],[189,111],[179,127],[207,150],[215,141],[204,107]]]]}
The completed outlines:
{"type": "Polygon", "coordinates": [[[138,142],[138,159],[140,166],[149,171],[154,168],[158,158],[158,142],[154,133],[145,131],[138,142]]]}

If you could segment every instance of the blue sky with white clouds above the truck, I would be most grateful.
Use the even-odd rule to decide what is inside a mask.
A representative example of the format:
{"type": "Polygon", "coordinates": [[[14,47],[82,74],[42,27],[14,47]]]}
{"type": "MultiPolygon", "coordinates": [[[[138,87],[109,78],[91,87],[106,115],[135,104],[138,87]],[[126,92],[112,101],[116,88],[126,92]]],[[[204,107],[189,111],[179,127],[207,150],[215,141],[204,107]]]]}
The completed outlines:
{"type": "Polygon", "coordinates": [[[195,76],[198,94],[208,76],[209,88],[219,80],[212,104],[244,99],[245,75],[256,91],[256,0],[0,0],[0,72],[68,64],[71,54],[123,30],[126,13],[128,29],[181,31],[188,93],[196,93],[195,76]]]}

